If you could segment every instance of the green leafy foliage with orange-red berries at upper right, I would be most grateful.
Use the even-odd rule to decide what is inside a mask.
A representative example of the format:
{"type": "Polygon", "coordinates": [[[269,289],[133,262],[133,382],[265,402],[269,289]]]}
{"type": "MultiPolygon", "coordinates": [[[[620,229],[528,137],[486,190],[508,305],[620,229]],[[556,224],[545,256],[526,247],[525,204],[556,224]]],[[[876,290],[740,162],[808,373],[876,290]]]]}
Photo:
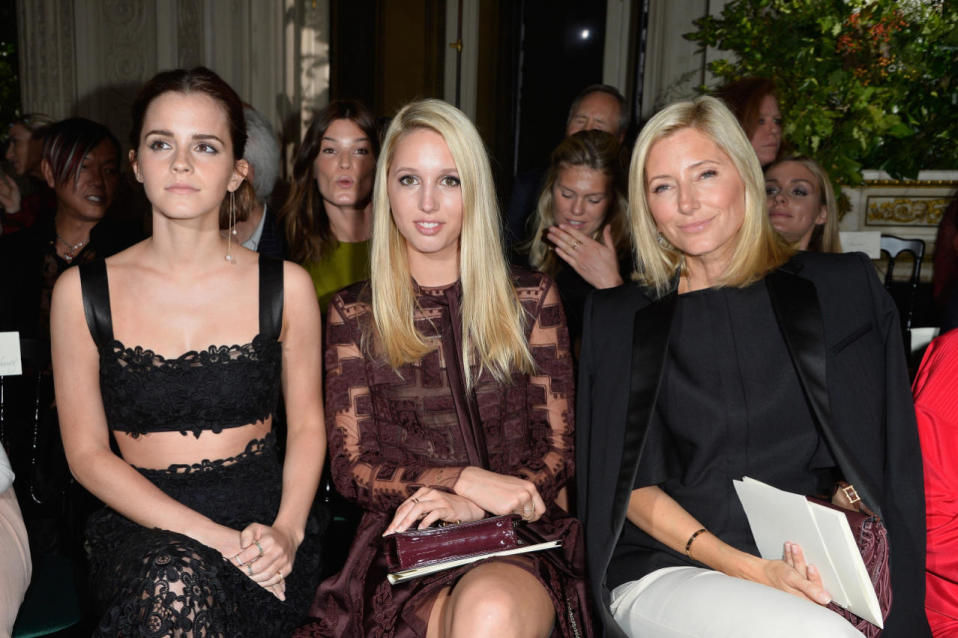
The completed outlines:
{"type": "MultiPolygon", "coordinates": [[[[775,81],[784,134],[838,183],[958,168],[958,9],[947,0],[732,0],[686,34],[775,81]]],[[[702,87],[706,90],[706,87],[702,87]]]]}

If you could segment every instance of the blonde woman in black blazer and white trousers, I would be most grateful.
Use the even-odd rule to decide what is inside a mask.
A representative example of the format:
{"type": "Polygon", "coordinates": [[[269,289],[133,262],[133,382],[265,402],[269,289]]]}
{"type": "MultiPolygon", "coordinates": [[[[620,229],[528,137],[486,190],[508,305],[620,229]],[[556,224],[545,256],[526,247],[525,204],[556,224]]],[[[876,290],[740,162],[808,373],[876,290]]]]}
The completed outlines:
{"type": "Polygon", "coordinates": [[[861,254],[799,253],[718,100],[655,115],[629,176],[637,285],[586,305],[579,514],[606,636],[860,636],[801,548],[758,556],[732,486],[852,483],[882,512],[886,637],[927,636],[915,415],[895,306],[861,254]]]}

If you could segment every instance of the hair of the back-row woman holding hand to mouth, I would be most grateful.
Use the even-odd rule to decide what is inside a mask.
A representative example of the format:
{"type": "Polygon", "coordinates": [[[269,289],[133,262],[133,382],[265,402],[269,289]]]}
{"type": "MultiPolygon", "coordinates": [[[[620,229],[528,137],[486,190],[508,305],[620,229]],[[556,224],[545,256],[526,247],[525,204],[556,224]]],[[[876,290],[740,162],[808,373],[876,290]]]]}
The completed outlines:
{"type": "Polygon", "coordinates": [[[526,244],[529,265],[554,276],[562,262],[543,238],[546,229],[555,224],[555,195],[552,190],[559,179],[559,171],[572,166],[582,166],[599,171],[608,180],[608,208],[605,218],[593,233],[600,239],[606,225],[612,227],[612,242],[616,252],[624,255],[629,245],[629,222],[627,205],[622,192],[622,169],[619,163],[619,141],[605,131],[579,131],[562,140],[552,151],[549,171],[539,194],[539,203],[533,219],[534,232],[526,244]]]}

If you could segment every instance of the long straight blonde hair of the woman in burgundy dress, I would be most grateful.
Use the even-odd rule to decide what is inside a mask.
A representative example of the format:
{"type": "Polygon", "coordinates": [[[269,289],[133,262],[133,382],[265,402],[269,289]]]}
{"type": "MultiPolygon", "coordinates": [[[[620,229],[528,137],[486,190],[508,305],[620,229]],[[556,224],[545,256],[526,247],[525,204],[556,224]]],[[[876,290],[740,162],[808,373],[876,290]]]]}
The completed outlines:
{"type": "Polygon", "coordinates": [[[499,209],[492,170],[476,127],[459,109],[442,100],[404,106],[386,131],[373,186],[373,238],[370,290],[377,349],[393,368],[433,350],[416,330],[416,295],[406,241],[392,216],[387,191],[389,169],[403,138],[418,129],[435,131],[449,147],[459,172],[462,231],[459,279],[462,285],[462,362],[466,386],[475,381],[470,364],[508,382],[515,371],[531,373],[525,338],[526,315],[519,303],[502,250],[499,209]]]}

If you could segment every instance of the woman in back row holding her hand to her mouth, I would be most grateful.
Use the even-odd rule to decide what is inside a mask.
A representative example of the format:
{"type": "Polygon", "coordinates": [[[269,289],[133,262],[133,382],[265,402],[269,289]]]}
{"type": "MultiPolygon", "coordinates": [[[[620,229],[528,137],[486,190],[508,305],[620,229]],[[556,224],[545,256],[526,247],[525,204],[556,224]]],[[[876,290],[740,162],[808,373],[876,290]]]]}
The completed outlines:
{"type": "Polygon", "coordinates": [[[552,152],[530,220],[529,265],[555,279],[576,351],[586,295],[622,284],[631,272],[627,204],[618,140],[581,130],[552,152]]]}

